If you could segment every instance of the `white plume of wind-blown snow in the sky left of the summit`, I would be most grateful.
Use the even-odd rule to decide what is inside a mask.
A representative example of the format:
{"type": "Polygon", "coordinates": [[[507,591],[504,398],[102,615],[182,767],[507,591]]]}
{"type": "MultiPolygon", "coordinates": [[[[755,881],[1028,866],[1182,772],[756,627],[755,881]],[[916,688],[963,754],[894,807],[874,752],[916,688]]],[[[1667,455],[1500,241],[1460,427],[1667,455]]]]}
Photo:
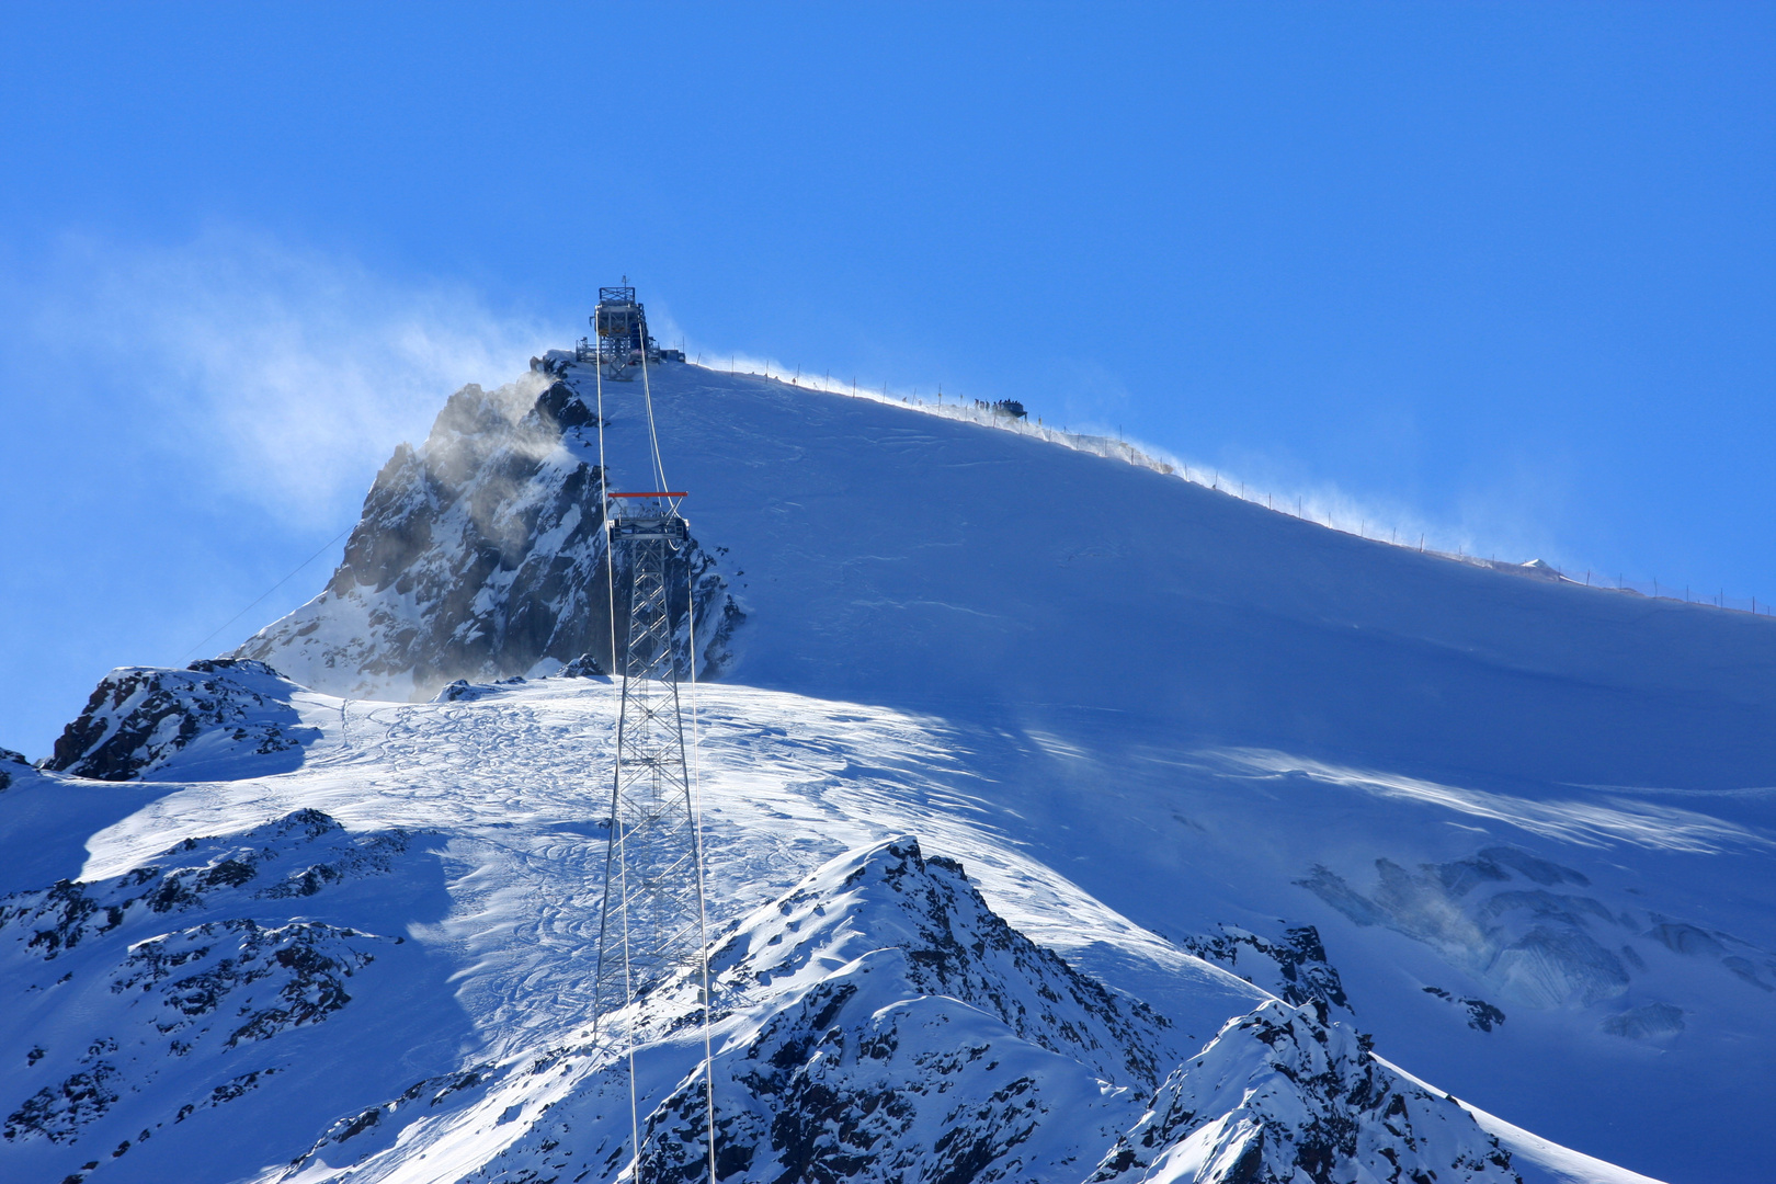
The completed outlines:
{"type": "Polygon", "coordinates": [[[147,403],[142,430],[233,495],[336,520],[437,392],[510,375],[538,323],[451,284],[213,231],[178,247],[69,240],[37,282],[46,341],[147,403]]]}

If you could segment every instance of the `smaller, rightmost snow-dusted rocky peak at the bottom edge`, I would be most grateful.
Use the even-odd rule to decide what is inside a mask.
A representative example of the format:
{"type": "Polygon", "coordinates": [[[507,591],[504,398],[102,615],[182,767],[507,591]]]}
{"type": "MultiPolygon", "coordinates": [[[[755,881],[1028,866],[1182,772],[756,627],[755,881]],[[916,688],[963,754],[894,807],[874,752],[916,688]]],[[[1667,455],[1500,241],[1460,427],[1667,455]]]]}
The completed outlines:
{"type": "Polygon", "coordinates": [[[1369,1056],[1325,1010],[1266,1003],[1160,1088],[1092,1184],[1517,1180],[1472,1115],[1369,1056]]]}

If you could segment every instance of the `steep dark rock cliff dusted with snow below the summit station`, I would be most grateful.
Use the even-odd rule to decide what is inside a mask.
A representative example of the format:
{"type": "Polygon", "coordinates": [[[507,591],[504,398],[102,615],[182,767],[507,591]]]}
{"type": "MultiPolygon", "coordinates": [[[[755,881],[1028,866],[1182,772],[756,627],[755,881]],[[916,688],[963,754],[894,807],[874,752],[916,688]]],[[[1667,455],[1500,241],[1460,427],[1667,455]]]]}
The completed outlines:
{"type": "MultiPolygon", "coordinates": [[[[449,398],[424,446],[400,446],[364,499],[327,589],[234,653],[352,698],[432,698],[464,678],[549,673],[579,655],[611,669],[597,417],[549,373],[449,398]]],[[[622,561],[622,556],[618,556],[622,561]]],[[[702,669],[741,612],[693,543],[702,669]]],[[[614,572],[618,614],[627,579],[614,572]]],[[[673,586],[687,646],[687,586],[673,586]]]]}

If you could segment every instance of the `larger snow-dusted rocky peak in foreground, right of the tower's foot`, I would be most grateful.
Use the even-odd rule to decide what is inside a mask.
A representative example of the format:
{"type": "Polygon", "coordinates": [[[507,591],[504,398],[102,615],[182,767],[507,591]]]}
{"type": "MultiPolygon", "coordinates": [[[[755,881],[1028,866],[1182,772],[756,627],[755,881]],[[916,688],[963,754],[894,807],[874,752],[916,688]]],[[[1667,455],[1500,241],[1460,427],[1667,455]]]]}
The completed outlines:
{"type": "MultiPolygon", "coordinates": [[[[710,975],[721,1179],[1078,1179],[1176,1056],[1163,1019],[1012,930],[911,838],[748,916],[710,975]]],[[[616,1017],[677,1062],[643,1102],[645,1179],[696,1179],[707,1156],[696,1019],[691,985],[616,1017]]],[[[471,1179],[622,1161],[623,1067],[602,1062],[471,1179]]]]}

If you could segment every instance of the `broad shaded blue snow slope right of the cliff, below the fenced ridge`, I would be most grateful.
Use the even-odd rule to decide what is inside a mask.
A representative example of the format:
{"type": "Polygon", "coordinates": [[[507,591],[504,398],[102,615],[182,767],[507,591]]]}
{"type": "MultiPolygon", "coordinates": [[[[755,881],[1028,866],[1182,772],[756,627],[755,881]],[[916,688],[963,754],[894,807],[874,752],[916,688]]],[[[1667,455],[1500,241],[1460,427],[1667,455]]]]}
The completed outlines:
{"type": "MultiPolygon", "coordinates": [[[[654,385],[748,614],[730,682],[943,719],[993,825],[1149,928],[1316,925],[1378,1047],[1506,1120],[1764,1170],[1776,621],[876,401],[654,385]]],[[[638,454],[634,396],[607,414],[638,454]]]]}

